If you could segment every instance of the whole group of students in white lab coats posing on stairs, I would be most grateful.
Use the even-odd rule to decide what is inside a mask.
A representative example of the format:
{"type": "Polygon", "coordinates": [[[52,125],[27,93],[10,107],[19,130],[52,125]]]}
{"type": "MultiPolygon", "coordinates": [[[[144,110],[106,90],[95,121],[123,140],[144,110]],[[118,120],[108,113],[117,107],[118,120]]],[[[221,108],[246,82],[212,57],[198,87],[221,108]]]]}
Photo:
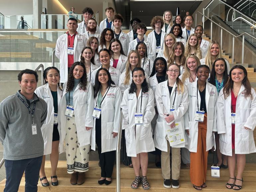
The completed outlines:
{"type": "MultiPolygon", "coordinates": [[[[46,84],[35,91],[48,104],[47,120],[41,129],[44,155],[51,154],[52,184],[58,185],[56,168],[64,146],[70,183],[84,183],[90,145],[92,150],[96,145],[98,148],[98,183],[110,184],[122,121],[124,161],[135,172],[131,188],[138,188],[140,183],[143,189],[150,188],[148,152],[158,150],[164,187],[180,187],[183,159],[190,163],[193,187],[201,190],[206,187],[208,151],[217,144],[218,165],[224,168],[228,163],[229,167],[226,187],[241,189],[245,154],[256,152],[256,94],[246,69],[241,65],[230,69],[228,61],[221,58],[219,43],[204,41],[202,26],[191,27],[191,15],[184,18],[184,24],[180,15],[173,24],[170,11],[163,17],[155,16],[151,22],[154,30],[146,37],[147,28],[138,18],[131,21],[133,31],[129,34],[116,34],[123,20],[113,13],[113,8],[106,9],[100,36],[96,26],[95,33],[89,33],[90,21],[94,19],[88,18],[87,23],[78,25],[78,29],[86,32],[77,43],[88,38],[80,52],[67,48],[72,41],[69,36],[59,40],[59,45],[68,41],[68,53],[64,53],[67,60],[69,55],[77,60],[71,65],[65,61],[65,66],[60,60],[60,71],[46,68],[46,84]],[[121,35],[125,41],[120,40],[121,35]],[[128,40],[131,41],[127,46],[128,40]],[[60,82],[64,83],[62,88],[60,82]],[[227,158],[222,160],[222,154],[227,158]]],[[[91,13],[87,9],[83,14],[91,13]]],[[[80,36],[77,32],[76,35],[80,36]]],[[[45,156],[40,180],[43,186],[48,186],[44,165],[45,156]]]]}

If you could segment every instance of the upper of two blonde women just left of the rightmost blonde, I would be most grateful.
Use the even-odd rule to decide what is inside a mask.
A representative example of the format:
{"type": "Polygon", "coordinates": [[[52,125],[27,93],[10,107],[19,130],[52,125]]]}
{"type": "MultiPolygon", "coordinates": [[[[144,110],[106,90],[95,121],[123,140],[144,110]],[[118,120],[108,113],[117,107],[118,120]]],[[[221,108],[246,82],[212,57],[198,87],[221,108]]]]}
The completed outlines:
{"type": "Polygon", "coordinates": [[[202,58],[198,37],[195,34],[190,34],[188,42],[185,47],[185,57],[195,55],[199,59],[202,58]]]}

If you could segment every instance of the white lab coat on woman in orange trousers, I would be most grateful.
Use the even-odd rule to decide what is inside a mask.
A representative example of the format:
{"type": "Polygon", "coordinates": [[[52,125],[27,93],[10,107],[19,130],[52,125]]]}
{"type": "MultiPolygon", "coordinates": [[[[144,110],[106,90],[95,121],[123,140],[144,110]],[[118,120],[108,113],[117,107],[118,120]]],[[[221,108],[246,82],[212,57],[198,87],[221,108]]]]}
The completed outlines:
{"type": "MultiPolygon", "coordinates": [[[[198,121],[195,121],[195,114],[197,111],[197,99],[196,92],[197,89],[197,81],[190,83],[188,85],[189,90],[189,109],[184,116],[185,119],[185,129],[189,130],[190,135],[187,135],[188,145],[186,148],[189,149],[190,152],[197,151],[197,137],[198,137],[198,121]]],[[[215,140],[213,137],[213,131],[217,131],[217,99],[218,92],[214,85],[206,82],[206,90],[205,90],[205,104],[207,109],[207,132],[206,132],[206,151],[210,150],[212,146],[215,148],[215,140]]],[[[200,110],[200,94],[198,91],[198,107],[200,110]]],[[[205,117],[204,117],[205,118],[205,117]]]]}

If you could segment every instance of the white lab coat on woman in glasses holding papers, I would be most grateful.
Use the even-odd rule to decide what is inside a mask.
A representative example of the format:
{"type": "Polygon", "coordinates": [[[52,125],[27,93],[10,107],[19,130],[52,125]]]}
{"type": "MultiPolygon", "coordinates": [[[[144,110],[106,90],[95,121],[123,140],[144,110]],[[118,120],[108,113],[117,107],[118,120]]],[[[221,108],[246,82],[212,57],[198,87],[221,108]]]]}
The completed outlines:
{"type": "MultiPolygon", "coordinates": [[[[170,96],[169,89],[168,89],[168,81],[164,81],[159,83],[156,88],[156,103],[157,103],[157,111],[158,111],[158,118],[157,118],[157,125],[154,135],[154,144],[156,148],[160,149],[161,151],[167,152],[167,142],[166,142],[166,135],[167,129],[170,128],[171,123],[173,122],[181,122],[182,129],[185,136],[185,122],[184,122],[184,114],[187,112],[189,108],[189,98],[188,98],[188,88],[184,85],[184,92],[176,91],[176,98],[175,97],[175,90],[177,84],[175,82],[172,93],[170,96]],[[173,111],[174,121],[167,123],[165,120],[166,115],[170,114],[170,109],[172,108],[174,102],[173,111]]],[[[186,137],[185,137],[186,141],[186,137]]],[[[177,144],[172,147],[185,147],[187,141],[182,144],[177,144]]]]}

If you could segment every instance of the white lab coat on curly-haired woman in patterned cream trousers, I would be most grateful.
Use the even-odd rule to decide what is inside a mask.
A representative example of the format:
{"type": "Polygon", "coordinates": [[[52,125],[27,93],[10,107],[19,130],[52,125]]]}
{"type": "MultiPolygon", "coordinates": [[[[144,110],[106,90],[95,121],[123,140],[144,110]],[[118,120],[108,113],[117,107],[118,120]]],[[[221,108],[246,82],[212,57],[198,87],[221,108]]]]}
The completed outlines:
{"type": "MultiPolygon", "coordinates": [[[[62,143],[64,142],[66,136],[66,103],[65,94],[67,82],[63,85],[63,99],[61,102],[61,135],[62,143]]],[[[91,129],[86,130],[85,127],[93,127],[93,87],[90,82],[87,81],[86,90],[80,90],[79,84],[73,89],[73,105],[74,105],[74,116],[75,116],[75,125],[77,132],[77,140],[80,146],[88,145],[91,141],[91,129]]]]}

